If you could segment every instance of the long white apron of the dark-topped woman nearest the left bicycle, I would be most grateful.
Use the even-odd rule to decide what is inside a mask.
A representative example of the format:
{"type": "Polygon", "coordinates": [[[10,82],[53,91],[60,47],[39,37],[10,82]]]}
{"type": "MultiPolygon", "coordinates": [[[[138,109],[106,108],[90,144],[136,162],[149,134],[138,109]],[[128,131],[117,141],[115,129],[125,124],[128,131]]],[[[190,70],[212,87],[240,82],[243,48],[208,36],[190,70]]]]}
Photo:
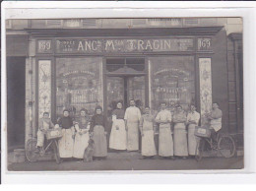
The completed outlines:
{"type": "Polygon", "coordinates": [[[60,158],[72,158],[74,149],[74,139],[72,135],[74,128],[62,129],[62,138],[59,140],[59,155],[60,158]]]}

